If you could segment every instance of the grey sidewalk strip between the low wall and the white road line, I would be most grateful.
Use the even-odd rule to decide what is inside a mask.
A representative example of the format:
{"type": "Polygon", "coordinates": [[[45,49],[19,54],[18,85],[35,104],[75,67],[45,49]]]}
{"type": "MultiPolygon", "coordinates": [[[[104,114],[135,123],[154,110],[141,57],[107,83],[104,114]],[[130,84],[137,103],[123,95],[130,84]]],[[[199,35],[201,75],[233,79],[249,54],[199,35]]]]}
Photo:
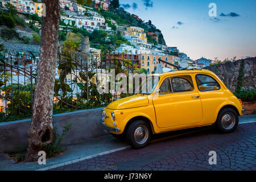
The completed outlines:
{"type": "MultiPolygon", "coordinates": [[[[242,123],[250,122],[256,122],[255,114],[240,117],[241,125],[242,123]]],[[[48,159],[46,165],[39,165],[37,162],[15,164],[7,158],[6,154],[0,154],[0,170],[46,170],[129,148],[126,142],[115,139],[112,135],[68,145],[66,147],[67,150],[63,155],[48,159]]]]}

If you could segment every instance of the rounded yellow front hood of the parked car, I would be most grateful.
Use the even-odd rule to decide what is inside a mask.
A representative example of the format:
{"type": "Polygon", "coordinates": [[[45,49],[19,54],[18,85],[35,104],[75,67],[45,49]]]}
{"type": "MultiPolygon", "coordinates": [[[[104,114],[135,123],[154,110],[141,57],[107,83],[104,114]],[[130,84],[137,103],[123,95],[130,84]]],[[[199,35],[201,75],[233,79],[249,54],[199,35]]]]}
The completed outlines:
{"type": "Polygon", "coordinates": [[[148,105],[148,98],[146,96],[131,96],[114,101],[108,105],[108,109],[130,109],[134,107],[143,107],[148,105]]]}

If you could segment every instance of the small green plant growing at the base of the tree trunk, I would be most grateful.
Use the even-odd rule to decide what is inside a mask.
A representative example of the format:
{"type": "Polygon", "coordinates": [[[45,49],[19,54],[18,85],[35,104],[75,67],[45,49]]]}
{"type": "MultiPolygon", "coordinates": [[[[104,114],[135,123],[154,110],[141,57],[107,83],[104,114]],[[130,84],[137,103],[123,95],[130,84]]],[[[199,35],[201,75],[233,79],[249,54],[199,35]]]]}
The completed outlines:
{"type": "Polygon", "coordinates": [[[59,135],[57,133],[57,128],[55,127],[55,135],[53,137],[51,144],[44,144],[43,150],[46,152],[47,158],[52,158],[60,152],[64,152],[66,150],[65,147],[61,146],[61,142],[63,140],[63,137],[65,137],[68,134],[68,131],[71,129],[72,123],[69,123],[63,128],[63,133],[59,135]]]}

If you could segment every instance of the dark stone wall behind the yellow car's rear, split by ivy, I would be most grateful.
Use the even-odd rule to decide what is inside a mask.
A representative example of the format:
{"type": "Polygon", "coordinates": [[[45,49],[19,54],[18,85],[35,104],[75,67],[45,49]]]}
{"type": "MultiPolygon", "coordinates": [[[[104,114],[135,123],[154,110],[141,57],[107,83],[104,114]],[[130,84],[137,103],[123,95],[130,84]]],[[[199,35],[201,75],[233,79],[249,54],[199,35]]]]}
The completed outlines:
{"type": "MultiPolygon", "coordinates": [[[[242,60],[206,67],[214,72],[232,92],[236,91],[237,79],[242,60]]],[[[242,80],[242,89],[251,90],[256,88],[256,57],[245,59],[245,71],[242,80]]]]}

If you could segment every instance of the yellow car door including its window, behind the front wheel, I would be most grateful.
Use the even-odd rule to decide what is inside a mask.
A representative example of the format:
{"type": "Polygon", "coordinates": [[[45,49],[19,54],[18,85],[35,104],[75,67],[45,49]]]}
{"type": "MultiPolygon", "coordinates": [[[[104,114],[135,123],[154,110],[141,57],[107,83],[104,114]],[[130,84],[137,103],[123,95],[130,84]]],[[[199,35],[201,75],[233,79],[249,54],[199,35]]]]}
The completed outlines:
{"type": "Polygon", "coordinates": [[[153,97],[156,123],[160,128],[201,122],[203,111],[191,75],[165,78],[159,94],[153,97]]]}

